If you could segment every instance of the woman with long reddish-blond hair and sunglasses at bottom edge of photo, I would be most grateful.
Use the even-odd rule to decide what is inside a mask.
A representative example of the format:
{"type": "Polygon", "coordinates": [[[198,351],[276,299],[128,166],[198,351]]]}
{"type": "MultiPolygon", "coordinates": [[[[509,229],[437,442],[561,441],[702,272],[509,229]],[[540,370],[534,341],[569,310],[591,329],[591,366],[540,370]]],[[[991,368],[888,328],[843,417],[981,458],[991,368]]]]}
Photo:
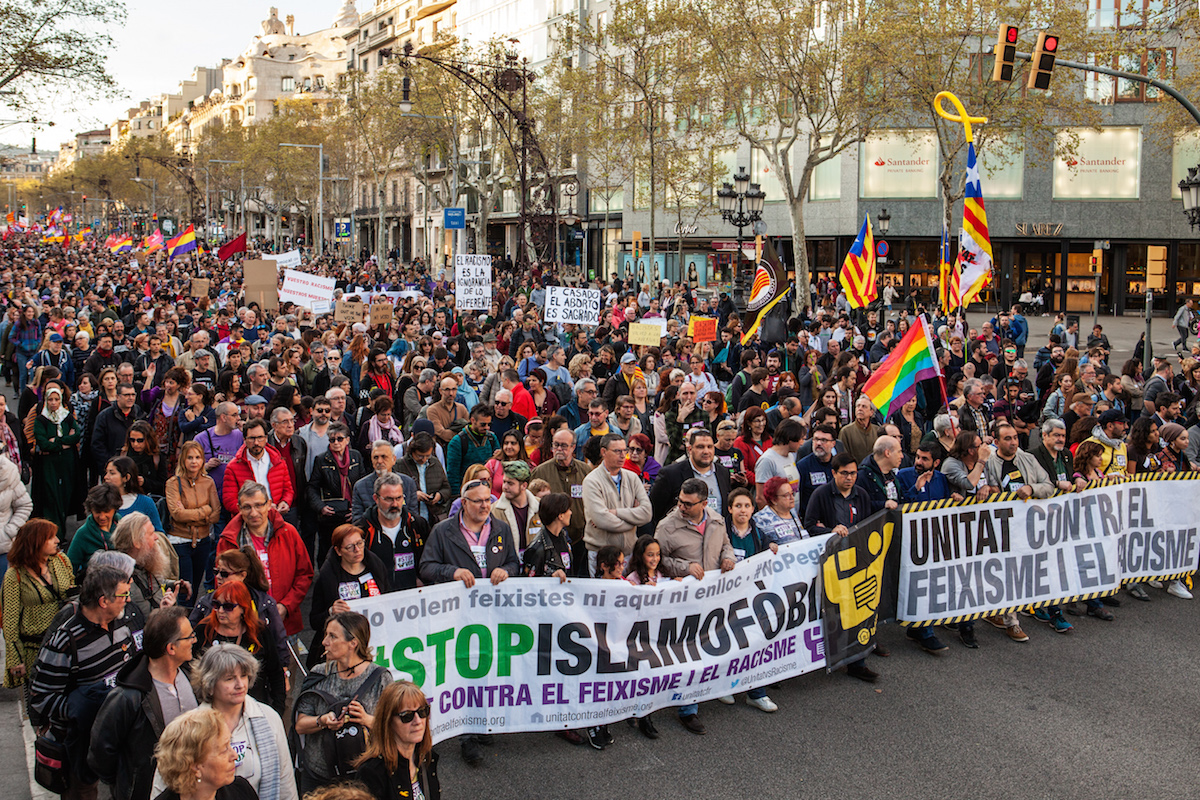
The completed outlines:
{"type": "Polygon", "coordinates": [[[398,680],[379,696],[359,781],[374,800],[442,798],[430,704],[415,684],[398,680]]]}

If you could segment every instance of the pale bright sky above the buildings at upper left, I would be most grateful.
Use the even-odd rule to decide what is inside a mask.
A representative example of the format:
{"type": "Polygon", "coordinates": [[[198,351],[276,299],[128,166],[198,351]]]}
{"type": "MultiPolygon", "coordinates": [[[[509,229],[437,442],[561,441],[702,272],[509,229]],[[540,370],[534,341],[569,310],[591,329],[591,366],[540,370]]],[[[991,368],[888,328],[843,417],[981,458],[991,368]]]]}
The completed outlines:
{"type": "MultiPolygon", "coordinates": [[[[359,10],[370,2],[359,0],[359,10]]],[[[281,20],[294,14],[296,32],[308,34],[328,28],[341,11],[342,0],[204,0],[182,5],[190,8],[187,16],[180,13],[180,4],[125,0],[127,19],[113,31],[115,46],[108,58],[120,96],[82,103],[74,112],[65,98],[50,97],[37,118],[53,121],[53,126],[8,126],[0,131],[0,142],[28,146],[36,136],[38,152],[56,152],[59,144],[76,133],[108,127],[140,101],[178,91],[179,82],[194,67],[235,58],[262,32],[262,22],[270,16],[272,5],[280,10],[281,20]]]]}

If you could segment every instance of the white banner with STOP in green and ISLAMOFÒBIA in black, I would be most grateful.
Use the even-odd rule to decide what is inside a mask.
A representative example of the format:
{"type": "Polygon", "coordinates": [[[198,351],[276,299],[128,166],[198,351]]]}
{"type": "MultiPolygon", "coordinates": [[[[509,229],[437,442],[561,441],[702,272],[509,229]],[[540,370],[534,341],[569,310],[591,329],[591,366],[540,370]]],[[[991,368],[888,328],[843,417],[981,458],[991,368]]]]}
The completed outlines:
{"type": "Polygon", "coordinates": [[[376,662],[433,700],[433,740],[563,730],[767,686],[824,666],[828,536],[703,581],[512,578],[350,602],[376,662]]]}

